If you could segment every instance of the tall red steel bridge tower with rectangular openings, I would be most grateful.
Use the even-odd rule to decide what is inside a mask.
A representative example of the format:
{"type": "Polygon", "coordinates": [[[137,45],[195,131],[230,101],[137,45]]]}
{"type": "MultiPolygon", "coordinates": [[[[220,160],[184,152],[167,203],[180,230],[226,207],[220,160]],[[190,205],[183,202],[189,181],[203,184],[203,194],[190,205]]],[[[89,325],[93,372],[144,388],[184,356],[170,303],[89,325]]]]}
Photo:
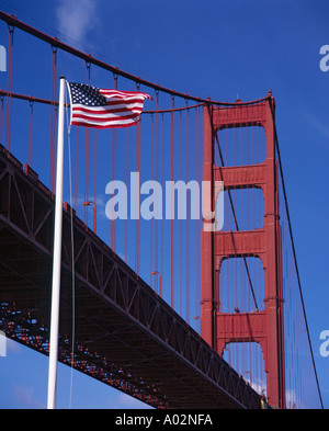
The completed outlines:
{"type": "MultiPolygon", "coordinates": [[[[203,180],[224,181],[226,191],[261,189],[265,202],[263,228],[250,231],[202,231],[202,337],[222,355],[226,344],[257,342],[261,345],[266,373],[268,399],[285,407],[283,292],[281,227],[277,202],[277,160],[274,141],[275,102],[269,98],[256,104],[205,107],[203,180]],[[252,166],[218,167],[214,162],[215,133],[227,127],[260,126],[265,131],[265,161],[252,166]],[[264,310],[219,313],[219,272],[232,257],[258,257],[264,269],[264,310]]],[[[214,192],[213,192],[214,194],[214,192]]],[[[215,196],[213,196],[213,211],[215,196]]]]}

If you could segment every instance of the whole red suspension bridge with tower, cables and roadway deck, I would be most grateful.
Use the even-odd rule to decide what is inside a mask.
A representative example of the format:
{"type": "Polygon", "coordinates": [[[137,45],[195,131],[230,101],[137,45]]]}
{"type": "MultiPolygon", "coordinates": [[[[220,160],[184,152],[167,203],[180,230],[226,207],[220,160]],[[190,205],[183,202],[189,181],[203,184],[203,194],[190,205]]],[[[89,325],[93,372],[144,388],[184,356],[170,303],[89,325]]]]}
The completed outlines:
{"type": "Polygon", "coordinates": [[[322,408],[272,92],[232,103],[180,93],[4,12],[0,19],[8,24],[8,81],[0,91],[0,330],[49,353],[63,54],[79,61],[86,83],[100,80],[101,70],[112,76],[113,88],[146,89],[154,101],[129,129],[71,131],[59,361],[156,408],[322,408]],[[49,47],[43,58],[52,65],[48,99],[29,94],[24,82],[18,87],[25,84],[25,93],[13,88],[14,69],[24,67],[15,45],[31,36],[49,47]],[[24,141],[14,134],[23,116],[24,141]],[[223,229],[189,216],[105,220],[104,229],[100,182],[110,175],[127,184],[132,172],[162,185],[208,181],[213,211],[215,182],[223,182],[223,229]]]}

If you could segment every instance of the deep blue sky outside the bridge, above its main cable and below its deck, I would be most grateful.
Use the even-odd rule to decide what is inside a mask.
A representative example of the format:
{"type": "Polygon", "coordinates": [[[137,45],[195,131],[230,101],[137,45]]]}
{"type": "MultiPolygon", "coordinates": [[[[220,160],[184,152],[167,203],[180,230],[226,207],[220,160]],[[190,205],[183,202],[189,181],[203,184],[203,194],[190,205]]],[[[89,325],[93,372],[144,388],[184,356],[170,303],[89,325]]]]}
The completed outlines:
{"type": "MultiPolygon", "coordinates": [[[[319,334],[329,329],[329,72],[319,68],[320,47],[329,44],[328,1],[7,0],[0,7],[113,66],[181,92],[249,101],[272,89],[303,294],[328,408],[329,358],[319,354],[319,334]]],[[[21,33],[15,35],[13,91],[49,98],[49,47],[29,36],[34,45],[26,49],[22,41],[21,33]],[[47,61],[38,61],[32,46],[47,61]]],[[[7,25],[0,23],[0,44],[7,43],[7,25]]],[[[65,55],[60,55],[61,71],[71,80],[86,79],[65,55]]],[[[99,82],[104,79],[93,69],[92,77],[99,82]]],[[[0,87],[7,88],[4,73],[0,87]]],[[[42,138],[34,133],[36,141],[42,138]]],[[[45,407],[45,358],[9,343],[0,366],[1,408],[45,407]]],[[[63,408],[69,402],[69,373],[59,367],[63,408]]],[[[75,373],[73,382],[73,407],[137,406],[86,376],[75,373]]]]}

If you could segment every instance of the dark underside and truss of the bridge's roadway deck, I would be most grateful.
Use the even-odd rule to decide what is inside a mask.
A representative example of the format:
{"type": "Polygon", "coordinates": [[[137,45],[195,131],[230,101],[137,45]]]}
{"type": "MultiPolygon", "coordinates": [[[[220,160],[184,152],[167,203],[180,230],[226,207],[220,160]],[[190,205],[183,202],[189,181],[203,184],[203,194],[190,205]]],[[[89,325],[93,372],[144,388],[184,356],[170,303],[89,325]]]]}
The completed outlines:
{"type": "MultiPolygon", "coordinates": [[[[0,330],[48,354],[54,195],[0,147],[0,330]]],[[[70,208],[64,208],[59,360],[70,363],[70,208]]],[[[73,216],[75,367],[157,408],[260,408],[260,396],[73,216]]]]}

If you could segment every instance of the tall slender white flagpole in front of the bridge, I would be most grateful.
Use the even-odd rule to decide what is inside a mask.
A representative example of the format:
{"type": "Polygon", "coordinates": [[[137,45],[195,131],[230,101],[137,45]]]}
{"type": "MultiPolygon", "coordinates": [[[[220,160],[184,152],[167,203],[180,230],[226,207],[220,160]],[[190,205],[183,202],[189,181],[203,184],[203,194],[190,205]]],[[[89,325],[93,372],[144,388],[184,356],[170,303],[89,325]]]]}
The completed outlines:
{"type": "Polygon", "coordinates": [[[64,170],[64,107],[66,79],[60,77],[58,141],[56,171],[55,230],[53,257],[53,293],[48,372],[48,409],[56,408],[57,360],[58,360],[58,326],[60,296],[61,230],[63,230],[63,170],[64,170]]]}

